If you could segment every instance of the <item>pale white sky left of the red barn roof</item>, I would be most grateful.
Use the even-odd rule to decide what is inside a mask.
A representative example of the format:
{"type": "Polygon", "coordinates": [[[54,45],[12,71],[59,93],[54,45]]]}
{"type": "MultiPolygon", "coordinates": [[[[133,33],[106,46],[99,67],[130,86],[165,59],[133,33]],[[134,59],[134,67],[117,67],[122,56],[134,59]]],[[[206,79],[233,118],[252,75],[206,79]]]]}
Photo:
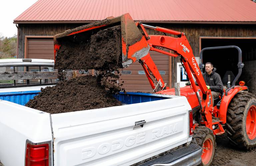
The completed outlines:
{"type": "Polygon", "coordinates": [[[17,35],[13,20],[32,6],[37,0],[0,0],[0,36],[17,35]]]}

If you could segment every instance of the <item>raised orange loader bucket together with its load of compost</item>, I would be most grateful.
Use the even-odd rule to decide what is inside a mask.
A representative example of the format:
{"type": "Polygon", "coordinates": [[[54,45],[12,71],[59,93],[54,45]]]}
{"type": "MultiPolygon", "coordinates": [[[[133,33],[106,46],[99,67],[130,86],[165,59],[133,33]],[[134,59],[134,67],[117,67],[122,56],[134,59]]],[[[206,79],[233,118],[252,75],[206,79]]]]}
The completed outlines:
{"type": "Polygon", "coordinates": [[[124,68],[146,56],[149,48],[127,13],[55,35],[55,68],[124,68]]]}

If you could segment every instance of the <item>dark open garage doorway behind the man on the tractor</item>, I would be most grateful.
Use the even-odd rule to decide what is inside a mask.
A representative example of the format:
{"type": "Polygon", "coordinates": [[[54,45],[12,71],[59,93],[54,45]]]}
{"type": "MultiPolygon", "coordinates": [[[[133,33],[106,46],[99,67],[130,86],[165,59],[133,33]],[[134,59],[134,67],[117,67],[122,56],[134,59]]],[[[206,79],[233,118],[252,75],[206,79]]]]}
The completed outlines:
{"type": "MultiPolygon", "coordinates": [[[[242,68],[242,74],[238,82],[243,80],[249,87],[249,91],[255,94],[256,90],[256,38],[201,38],[201,49],[206,47],[236,45],[242,50],[242,62],[245,64],[242,68]]],[[[203,53],[203,63],[211,62],[217,68],[216,72],[220,74],[223,84],[227,84],[227,76],[231,78],[238,74],[238,50],[235,48],[206,50],[203,53]]],[[[203,69],[203,72],[204,69],[203,69]]]]}

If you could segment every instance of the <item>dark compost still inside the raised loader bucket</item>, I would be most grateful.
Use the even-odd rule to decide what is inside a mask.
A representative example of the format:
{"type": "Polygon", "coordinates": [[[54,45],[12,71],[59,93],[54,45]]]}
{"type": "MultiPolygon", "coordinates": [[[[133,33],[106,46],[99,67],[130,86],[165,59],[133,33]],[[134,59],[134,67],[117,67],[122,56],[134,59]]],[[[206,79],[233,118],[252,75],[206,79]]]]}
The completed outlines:
{"type": "Polygon", "coordinates": [[[108,70],[122,65],[121,26],[114,26],[79,41],[63,40],[56,56],[56,69],[108,70]]]}

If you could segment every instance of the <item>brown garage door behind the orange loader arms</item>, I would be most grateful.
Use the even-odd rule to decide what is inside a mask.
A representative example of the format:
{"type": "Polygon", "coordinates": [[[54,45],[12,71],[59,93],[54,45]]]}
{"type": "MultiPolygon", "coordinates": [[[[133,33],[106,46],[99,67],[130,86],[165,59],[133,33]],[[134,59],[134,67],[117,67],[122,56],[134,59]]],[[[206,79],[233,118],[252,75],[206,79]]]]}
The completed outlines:
{"type": "MultiPolygon", "coordinates": [[[[169,56],[155,51],[150,51],[150,55],[160,71],[164,82],[167,83],[166,86],[169,86],[169,56]]],[[[138,61],[122,71],[121,79],[124,81],[126,91],[153,92],[147,76],[138,61]]]]}

